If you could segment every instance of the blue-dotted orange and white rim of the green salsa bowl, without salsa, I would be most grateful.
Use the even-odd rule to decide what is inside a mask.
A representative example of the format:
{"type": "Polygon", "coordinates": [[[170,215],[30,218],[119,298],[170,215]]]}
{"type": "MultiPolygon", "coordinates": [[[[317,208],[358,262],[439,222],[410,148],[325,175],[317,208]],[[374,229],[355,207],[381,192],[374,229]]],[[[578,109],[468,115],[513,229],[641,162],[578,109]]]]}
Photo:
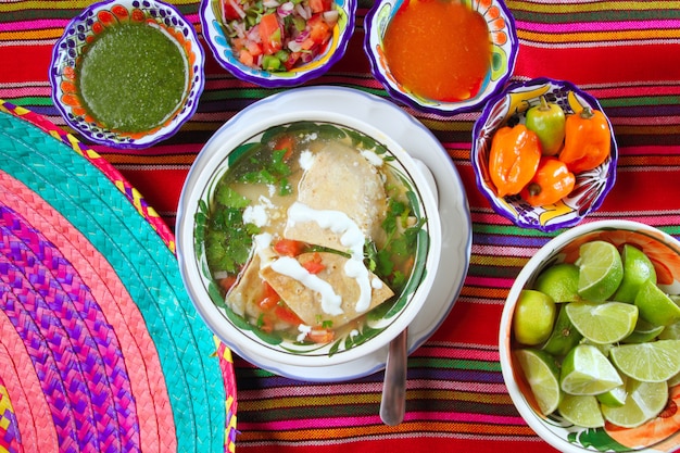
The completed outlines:
{"type": "Polygon", "coordinates": [[[203,91],[205,55],[198,35],[175,7],[158,0],[109,0],[93,3],[66,26],[52,50],[50,83],[52,100],[66,123],[88,139],[114,148],[148,148],[173,136],[198,108],[203,91]],[[142,133],[110,130],[86,111],[76,90],[76,66],[87,46],[104,28],[117,23],[138,22],[158,26],[176,40],[188,68],[184,99],[167,121],[142,133]]]}

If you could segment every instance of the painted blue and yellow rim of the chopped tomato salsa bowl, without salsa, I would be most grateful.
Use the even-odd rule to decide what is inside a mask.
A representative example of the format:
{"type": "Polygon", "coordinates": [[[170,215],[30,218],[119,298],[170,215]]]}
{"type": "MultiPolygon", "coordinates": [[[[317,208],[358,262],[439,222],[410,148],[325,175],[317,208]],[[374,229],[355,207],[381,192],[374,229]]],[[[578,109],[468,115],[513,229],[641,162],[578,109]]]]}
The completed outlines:
{"type": "Polygon", "coordinates": [[[219,0],[202,0],[199,16],[207,47],[225,70],[241,80],[265,88],[294,87],[325,74],[344,55],[354,33],[356,0],[335,0],[335,4],[339,12],[338,24],[326,49],[311,62],[282,72],[268,72],[239,61],[219,20],[219,0]]]}

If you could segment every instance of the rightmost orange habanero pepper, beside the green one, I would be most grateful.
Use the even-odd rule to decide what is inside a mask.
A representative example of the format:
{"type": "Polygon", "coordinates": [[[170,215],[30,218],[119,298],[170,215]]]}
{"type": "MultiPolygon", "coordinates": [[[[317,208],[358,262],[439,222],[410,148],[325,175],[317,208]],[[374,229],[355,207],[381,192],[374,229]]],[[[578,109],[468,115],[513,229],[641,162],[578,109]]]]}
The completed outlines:
{"type": "Polygon", "coordinates": [[[609,156],[610,148],[609,123],[602,112],[584,106],[581,112],[567,116],[559,160],[572,173],[595,168],[609,156]]]}

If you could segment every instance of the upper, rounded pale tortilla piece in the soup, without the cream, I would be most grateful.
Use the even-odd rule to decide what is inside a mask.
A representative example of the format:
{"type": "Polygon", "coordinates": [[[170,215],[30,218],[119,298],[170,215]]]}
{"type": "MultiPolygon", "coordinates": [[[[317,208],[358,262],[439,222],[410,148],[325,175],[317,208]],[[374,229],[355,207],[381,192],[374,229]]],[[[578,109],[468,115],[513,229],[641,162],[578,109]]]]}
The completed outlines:
{"type": "MultiPolygon", "coordinates": [[[[382,178],[355,149],[329,143],[319,150],[302,176],[298,201],[314,210],[347,214],[365,236],[381,243],[380,225],[387,215],[382,178]]],[[[345,251],[340,236],[315,222],[297,222],[284,232],[289,239],[345,251]]]]}

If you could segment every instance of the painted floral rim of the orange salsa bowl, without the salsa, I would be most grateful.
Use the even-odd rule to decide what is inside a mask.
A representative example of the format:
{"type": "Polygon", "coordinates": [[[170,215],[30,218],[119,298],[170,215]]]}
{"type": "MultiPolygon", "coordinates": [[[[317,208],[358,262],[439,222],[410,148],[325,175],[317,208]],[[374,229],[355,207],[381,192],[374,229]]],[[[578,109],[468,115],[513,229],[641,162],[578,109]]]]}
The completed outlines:
{"type": "Polygon", "coordinates": [[[463,2],[486,20],[492,45],[492,60],[490,72],[477,95],[459,102],[442,102],[423,98],[403,87],[390,73],[382,40],[391,18],[404,3],[407,3],[407,0],[378,1],[364,21],[366,29],[364,49],[370,61],[370,70],[390,96],[424,112],[454,115],[475,110],[503,88],[515,67],[519,43],[515,32],[515,20],[502,1],[466,0],[463,2]]]}

